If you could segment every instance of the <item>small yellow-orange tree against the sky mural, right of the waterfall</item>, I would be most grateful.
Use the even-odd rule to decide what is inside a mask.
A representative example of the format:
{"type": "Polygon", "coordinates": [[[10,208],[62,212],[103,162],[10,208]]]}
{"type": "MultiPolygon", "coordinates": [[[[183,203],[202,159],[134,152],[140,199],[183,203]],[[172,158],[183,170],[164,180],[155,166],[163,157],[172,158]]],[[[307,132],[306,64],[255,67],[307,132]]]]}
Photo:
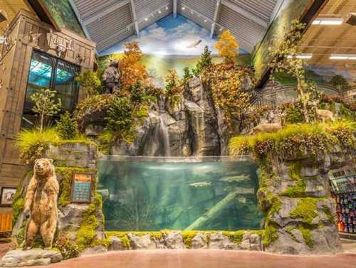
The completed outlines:
{"type": "Polygon", "coordinates": [[[239,43],[229,30],[224,31],[219,35],[219,41],[215,45],[219,52],[219,56],[224,58],[225,63],[235,63],[237,55],[239,55],[239,43]]]}

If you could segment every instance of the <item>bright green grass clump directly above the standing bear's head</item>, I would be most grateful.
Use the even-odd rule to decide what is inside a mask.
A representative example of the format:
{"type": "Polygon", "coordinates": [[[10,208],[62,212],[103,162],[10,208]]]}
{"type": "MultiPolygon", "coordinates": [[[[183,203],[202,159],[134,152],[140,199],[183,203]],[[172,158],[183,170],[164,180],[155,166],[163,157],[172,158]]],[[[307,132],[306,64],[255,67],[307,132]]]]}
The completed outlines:
{"type": "Polygon", "coordinates": [[[21,159],[25,164],[31,164],[36,159],[40,159],[43,153],[49,148],[49,144],[60,140],[56,129],[21,130],[17,136],[16,146],[20,149],[21,159]]]}

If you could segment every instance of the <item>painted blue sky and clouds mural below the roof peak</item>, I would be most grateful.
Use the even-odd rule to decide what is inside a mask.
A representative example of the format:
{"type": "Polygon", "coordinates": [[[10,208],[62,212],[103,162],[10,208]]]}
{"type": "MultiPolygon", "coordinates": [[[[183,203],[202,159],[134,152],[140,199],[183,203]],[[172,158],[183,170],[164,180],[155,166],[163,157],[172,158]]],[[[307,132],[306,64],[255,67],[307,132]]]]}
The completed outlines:
{"type": "MultiPolygon", "coordinates": [[[[131,36],[100,53],[100,60],[107,64],[110,55],[122,54],[122,45],[126,42],[137,41],[145,53],[142,63],[147,66],[150,76],[157,86],[162,86],[164,77],[169,69],[177,70],[183,75],[183,68],[194,68],[204,47],[208,45],[214,63],[222,61],[217,57],[215,43],[217,36],[210,38],[210,31],[202,28],[184,16],[166,16],[156,23],[140,31],[140,38],[131,36]]],[[[238,40],[239,42],[239,40],[238,40]]],[[[239,63],[250,63],[250,55],[239,51],[239,63]]]]}

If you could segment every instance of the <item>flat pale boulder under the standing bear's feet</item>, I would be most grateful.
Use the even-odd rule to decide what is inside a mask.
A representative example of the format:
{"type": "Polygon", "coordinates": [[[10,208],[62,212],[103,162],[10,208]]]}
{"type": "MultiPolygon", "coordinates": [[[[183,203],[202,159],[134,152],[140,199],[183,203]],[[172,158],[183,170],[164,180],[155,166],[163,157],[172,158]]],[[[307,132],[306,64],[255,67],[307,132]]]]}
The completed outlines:
{"type": "Polygon", "coordinates": [[[62,259],[61,253],[54,250],[11,250],[1,259],[0,267],[48,265],[62,259]]]}

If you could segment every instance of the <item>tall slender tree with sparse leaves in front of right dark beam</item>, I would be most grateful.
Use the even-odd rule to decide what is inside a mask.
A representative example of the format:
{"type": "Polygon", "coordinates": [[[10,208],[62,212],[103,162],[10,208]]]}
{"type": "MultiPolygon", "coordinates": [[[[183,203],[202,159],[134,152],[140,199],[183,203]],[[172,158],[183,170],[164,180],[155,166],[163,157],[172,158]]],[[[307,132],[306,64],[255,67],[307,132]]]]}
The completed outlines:
{"type": "Polygon", "coordinates": [[[305,122],[308,123],[310,122],[308,102],[315,87],[305,80],[305,59],[298,57],[298,43],[302,38],[304,28],[305,23],[300,23],[298,20],[292,21],[290,31],[276,45],[268,48],[268,51],[273,55],[269,64],[272,69],[272,78],[273,75],[281,72],[286,72],[296,78],[298,98],[303,107],[305,122]]]}

